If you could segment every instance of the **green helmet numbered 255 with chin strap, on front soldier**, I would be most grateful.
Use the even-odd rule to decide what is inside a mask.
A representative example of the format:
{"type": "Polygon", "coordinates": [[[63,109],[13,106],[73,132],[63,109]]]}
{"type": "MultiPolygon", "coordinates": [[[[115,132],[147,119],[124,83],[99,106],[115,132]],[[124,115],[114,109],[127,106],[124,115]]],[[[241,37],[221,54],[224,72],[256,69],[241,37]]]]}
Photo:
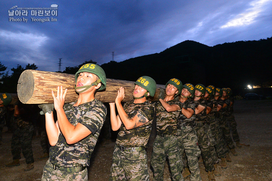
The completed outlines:
{"type": "Polygon", "coordinates": [[[93,74],[97,75],[99,77],[99,79],[96,80],[95,82],[93,82],[89,86],[82,86],[82,87],[78,87],[78,88],[76,88],[76,86],[74,86],[75,90],[76,89],[86,88],[83,91],[80,91],[78,93],[84,92],[84,91],[86,91],[87,89],[89,89],[92,86],[97,86],[97,84],[99,82],[101,82],[101,87],[98,90],[103,90],[103,89],[106,88],[106,82],[107,82],[107,80],[106,80],[106,74],[105,74],[104,70],[99,65],[96,65],[94,63],[86,63],[83,66],[81,66],[80,69],[76,72],[76,75],[75,75],[76,81],[77,81],[77,78],[78,78],[78,76],[79,76],[79,74],[81,72],[93,73],[93,74]]]}

